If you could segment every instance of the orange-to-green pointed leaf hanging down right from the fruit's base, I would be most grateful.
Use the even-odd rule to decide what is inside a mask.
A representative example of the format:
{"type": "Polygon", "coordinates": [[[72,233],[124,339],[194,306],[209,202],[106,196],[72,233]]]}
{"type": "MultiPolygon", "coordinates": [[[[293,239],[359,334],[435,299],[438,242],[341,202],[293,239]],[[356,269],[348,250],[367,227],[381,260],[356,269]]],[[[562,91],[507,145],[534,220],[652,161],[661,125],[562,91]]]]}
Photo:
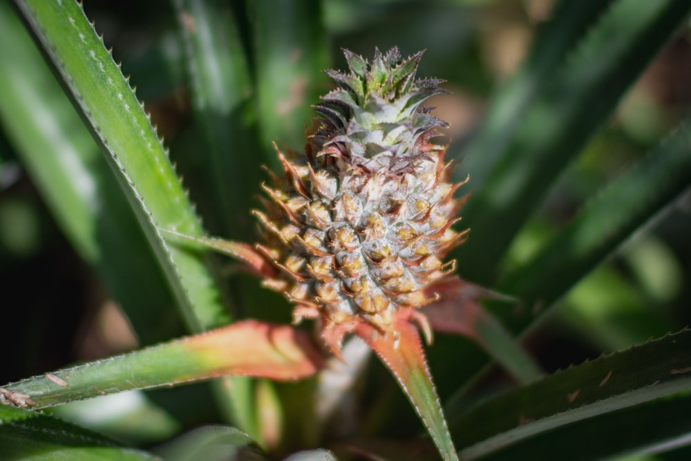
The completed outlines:
{"type": "Polygon", "coordinates": [[[354,332],[391,370],[427,428],[442,459],[458,460],[417,328],[406,319],[397,319],[386,334],[364,322],[359,323],[354,332]]]}

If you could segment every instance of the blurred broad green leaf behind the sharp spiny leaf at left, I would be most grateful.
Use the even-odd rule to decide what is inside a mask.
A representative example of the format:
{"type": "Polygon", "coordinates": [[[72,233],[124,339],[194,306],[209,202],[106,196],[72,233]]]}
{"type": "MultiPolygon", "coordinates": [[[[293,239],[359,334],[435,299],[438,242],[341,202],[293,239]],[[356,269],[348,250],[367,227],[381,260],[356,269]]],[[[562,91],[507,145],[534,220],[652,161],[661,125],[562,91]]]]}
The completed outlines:
{"type": "Polygon", "coordinates": [[[0,4],[0,120],[63,232],[97,268],[138,338],[182,332],[160,266],[105,158],[19,18],[0,4]],[[131,257],[138,255],[137,258],[131,257]],[[147,290],[140,290],[142,280],[147,290]]]}

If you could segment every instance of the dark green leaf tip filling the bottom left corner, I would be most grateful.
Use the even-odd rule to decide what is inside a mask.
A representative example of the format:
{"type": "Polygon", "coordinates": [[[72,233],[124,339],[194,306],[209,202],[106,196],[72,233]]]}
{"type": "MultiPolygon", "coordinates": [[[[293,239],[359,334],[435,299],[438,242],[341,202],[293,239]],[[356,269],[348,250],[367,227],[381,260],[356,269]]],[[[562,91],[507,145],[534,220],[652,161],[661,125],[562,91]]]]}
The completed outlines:
{"type": "Polygon", "coordinates": [[[8,461],[160,459],[44,413],[6,405],[0,405],[0,458],[8,461]]]}

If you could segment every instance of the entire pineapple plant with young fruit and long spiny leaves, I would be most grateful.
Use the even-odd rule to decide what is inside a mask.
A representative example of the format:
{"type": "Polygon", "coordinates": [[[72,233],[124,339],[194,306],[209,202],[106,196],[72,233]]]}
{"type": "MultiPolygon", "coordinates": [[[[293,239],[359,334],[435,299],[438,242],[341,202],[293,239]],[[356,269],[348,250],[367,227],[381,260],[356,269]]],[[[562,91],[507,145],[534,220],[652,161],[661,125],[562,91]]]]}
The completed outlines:
{"type": "MultiPolygon", "coordinates": [[[[560,216],[565,227],[536,234],[540,228],[533,219],[553,218],[540,203],[547,191],[564,187],[554,187],[555,178],[573,176],[567,165],[582,149],[593,161],[585,140],[599,138],[596,128],[674,30],[683,28],[688,3],[561,1],[547,2],[553,9],[540,13],[538,3],[547,3],[441,8],[408,1],[173,0],[175,17],[160,15],[158,3],[142,3],[142,14],[155,12],[166,29],[152,35],[160,41],[143,47],[155,59],[127,51],[120,41],[108,43],[113,32],[106,27],[113,59],[96,32],[109,23],[101,20],[109,6],[14,3],[16,11],[0,6],[1,145],[6,136],[61,231],[95,268],[108,297],[120,303],[137,341],[122,355],[110,349],[37,364],[24,352],[53,356],[71,333],[45,311],[36,314],[29,300],[50,292],[43,304],[60,317],[66,317],[67,303],[55,303],[58,290],[21,292],[14,282],[21,277],[5,273],[12,282],[3,285],[3,299],[12,310],[3,337],[3,382],[9,384],[0,388],[1,458],[64,454],[176,461],[211,460],[221,453],[223,459],[265,460],[589,460],[635,452],[654,460],[688,458],[691,334],[679,331],[679,312],[674,323],[662,324],[661,312],[655,312],[647,319],[657,323],[641,321],[638,332],[630,320],[645,317],[635,312],[617,317],[616,325],[589,321],[578,330],[579,339],[604,340],[596,343],[598,352],[620,352],[564,371],[555,372],[583,356],[565,355],[540,335],[562,332],[555,330],[555,318],[563,321],[556,301],[578,279],[601,276],[596,265],[611,270],[605,258],[621,254],[616,252],[629,236],[641,235],[634,231],[688,188],[688,119],[600,194],[584,189],[592,198],[577,215],[560,216]],[[422,106],[443,90],[439,81],[415,79],[419,54],[402,59],[392,48],[366,60],[346,52],[345,64],[337,67],[348,70],[328,72],[338,88],[316,106],[319,118],[307,147],[282,149],[274,161],[271,142],[301,145],[309,104],[328,91],[326,83],[315,82],[330,66],[330,40],[363,53],[375,44],[427,48],[420,74],[448,79],[443,86],[455,95],[473,87],[485,97],[502,79],[484,79],[489,61],[476,58],[480,48],[495,48],[486,46],[486,36],[464,41],[467,14],[477,13],[470,21],[477,32],[487,24],[485,14],[517,9],[527,15],[521,23],[535,31],[533,46],[467,139],[455,133],[448,150],[435,142],[434,132],[444,123],[422,106]],[[534,22],[527,24],[527,17],[534,22]],[[430,33],[437,28],[451,33],[430,33]],[[180,42],[171,43],[169,32],[180,42]],[[132,72],[132,83],[140,86],[136,94],[118,59],[124,75],[132,72]],[[163,122],[160,106],[158,116],[146,112],[156,110],[160,95],[188,104],[173,129],[163,122]],[[200,160],[202,179],[186,157],[200,160]],[[461,158],[462,168],[448,166],[461,158]],[[258,185],[253,176],[261,164],[283,170],[271,175],[255,212],[263,241],[206,237],[209,232],[256,241],[241,228],[256,227],[249,213],[256,199],[245,194],[245,180],[258,185]],[[473,196],[455,198],[466,173],[473,196]],[[462,204],[472,238],[454,249],[464,240],[463,229],[453,229],[462,204]],[[193,242],[239,258],[288,302],[255,280],[244,283],[246,274],[237,265],[218,283],[215,261],[209,264],[207,249],[198,251],[193,242]],[[519,302],[481,307],[477,297],[491,293],[460,276],[519,302]],[[226,282],[232,296],[224,298],[226,282]],[[21,297],[13,298],[15,292],[21,297]],[[288,324],[290,304],[296,321],[316,320],[318,335],[288,324]],[[538,324],[542,319],[547,321],[538,324]],[[41,334],[41,324],[57,335],[41,334]],[[439,335],[425,350],[420,332],[430,339],[430,330],[465,338],[439,335]],[[669,331],[679,332],[665,336],[669,331]],[[170,340],[184,332],[189,336],[170,340]],[[353,340],[341,345],[348,333],[353,340]],[[366,346],[354,336],[379,355],[397,383],[368,360],[366,346]],[[641,344],[647,337],[657,339],[641,344]],[[25,338],[30,344],[20,342],[25,338]],[[528,340],[544,371],[517,338],[528,340]],[[345,364],[317,350],[321,342],[345,364]],[[632,344],[641,345],[625,350],[632,344]],[[559,352],[558,364],[543,361],[545,349],[559,352]],[[496,373],[492,359],[508,375],[496,373]],[[75,360],[86,363],[71,366],[75,360]],[[10,373],[15,364],[32,368],[10,373]],[[176,386],[207,379],[210,389],[203,383],[176,386]],[[282,383],[296,379],[305,381],[282,383]],[[160,394],[144,392],[162,387],[160,394]],[[122,392],[128,390],[134,393],[122,392]],[[399,404],[406,397],[422,424],[410,406],[399,404]],[[91,400],[75,402],[86,399],[91,400]],[[122,410],[120,421],[109,418],[112,408],[122,410]],[[214,425],[191,430],[200,424],[214,425]],[[595,438],[596,444],[582,443],[595,438]]],[[[136,16],[131,13],[127,19],[136,16]]],[[[149,22],[137,27],[149,30],[149,22]]],[[[340,58],[337,50],[331,54],[340,58]]],[[[444,96],[438,105],[449,100],[444,96]]],[[[440,109],[446,109],[445,120],[459,125],[453,113],[460,106],[440,109]]],[[[612,130],[618,127],[607,128],[612,130]]],[[[607,146],[600,157],[609,161],[616,155],[607,146]]],[[[10,178],[10,194],[14,155],[0,150],[0,187],[7,188],[10,178]]],[[[21,214],[10,212],[6,189],[2,193],[5,268],[11,247],[6,231],[15,227],[12,216],[21,214]]],[[[637,258],[644,266],[660,267],[643,256],[637,258]]],[[[31,274],[32,285],[72,272],[44,271],[31,274]]],[[[688,270],[681,272],[688,276],[688,270]]],[[[607,292],[616,291],[605,285],[607,292]]],[[[647,290],[645,283],[636,288],[647,290]]]]}

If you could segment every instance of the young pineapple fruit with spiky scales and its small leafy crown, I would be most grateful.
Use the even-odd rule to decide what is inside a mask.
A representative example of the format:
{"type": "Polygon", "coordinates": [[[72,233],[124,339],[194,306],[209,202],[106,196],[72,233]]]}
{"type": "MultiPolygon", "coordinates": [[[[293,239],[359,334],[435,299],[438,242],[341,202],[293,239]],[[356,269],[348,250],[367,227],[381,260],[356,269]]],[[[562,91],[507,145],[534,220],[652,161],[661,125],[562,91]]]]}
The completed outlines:
{"type": "Polygon", "coordinates": [[[446,93],[437,79],[415,79],[422,53],[393,48],[371,62],[344,50],[350,73],[328,75],[338,88],[321,98],[319,127],[304,153],[278,151],[285,178],[266,187],[258,249],[276,267],[265,285],[296,305],[294,317],[323,321],[339,355],[358,323],[392,333],[436,299],[435,282],[453,272],[444,256],[462,234],[451,229],[460,184],[448,182],[445,147],[431,142],[446,122],[421,106],[446,93]]]}

